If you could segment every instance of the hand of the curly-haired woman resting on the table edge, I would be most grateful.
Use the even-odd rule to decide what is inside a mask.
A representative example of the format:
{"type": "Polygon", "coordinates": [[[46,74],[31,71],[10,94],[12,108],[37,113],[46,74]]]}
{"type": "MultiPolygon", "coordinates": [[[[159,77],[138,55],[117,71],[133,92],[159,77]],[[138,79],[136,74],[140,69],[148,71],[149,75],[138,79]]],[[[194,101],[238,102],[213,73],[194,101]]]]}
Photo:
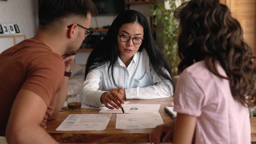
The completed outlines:
{"type": "Polygon", "coordinates": [[[150,134],[149,141],[150,143],[160,144],[160,141],[169,142],[173,136],[175,120],[172,120],[169,123],[158,125],[150,134]],[[162,138],[162,136],[164,137],[162,138]]]}

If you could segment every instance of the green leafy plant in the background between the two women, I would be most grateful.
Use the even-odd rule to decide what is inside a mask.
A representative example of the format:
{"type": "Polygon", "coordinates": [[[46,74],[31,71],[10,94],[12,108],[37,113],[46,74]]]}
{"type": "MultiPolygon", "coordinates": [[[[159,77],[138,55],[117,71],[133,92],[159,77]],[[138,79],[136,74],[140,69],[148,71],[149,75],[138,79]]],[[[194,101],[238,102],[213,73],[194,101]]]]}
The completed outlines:
{"type": "Polygon", "coordinates": [[[178,20],[173,13],[177,7],[185,0],[164,0],[164,3],[154,3],[150,5],[151,13],[154,16],[154,25],[163,23],[163,27],[158,29],[160,37],[163,38],[164,53],[171,64],[173,75],[178,75],[178,20]]]}

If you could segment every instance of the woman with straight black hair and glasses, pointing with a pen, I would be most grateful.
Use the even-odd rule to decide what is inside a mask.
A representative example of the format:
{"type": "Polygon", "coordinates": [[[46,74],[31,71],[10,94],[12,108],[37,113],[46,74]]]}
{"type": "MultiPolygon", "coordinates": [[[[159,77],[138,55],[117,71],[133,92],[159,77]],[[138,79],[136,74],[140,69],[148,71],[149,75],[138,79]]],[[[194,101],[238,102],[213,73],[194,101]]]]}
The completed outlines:
{"type": "Polygon", "coordinates": [[[122,99],[165,98],[172,96],[174,88],[170,67],[147,19],[126,10],[91,52],[81,93],[85,104],[119,109],[122,99]]]}

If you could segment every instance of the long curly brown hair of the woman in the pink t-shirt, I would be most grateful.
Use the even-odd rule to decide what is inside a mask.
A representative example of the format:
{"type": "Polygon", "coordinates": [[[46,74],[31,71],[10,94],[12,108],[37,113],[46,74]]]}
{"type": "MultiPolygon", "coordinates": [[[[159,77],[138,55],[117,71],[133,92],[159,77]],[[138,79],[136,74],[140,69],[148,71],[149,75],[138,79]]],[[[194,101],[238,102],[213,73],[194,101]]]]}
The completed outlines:
{"type": "Polygon", "coordinates": [[[179,73],[194,62],[205,60],[213,74],[230,81],[235,100],[245,106],[255,105],[256,68],[252,49],[245,43],[241,25],[231,16],[229,8],[219,0],[191,0],[174,15],[180,20],[181,28],[179,73]],[[218,73],[216,60],[228,77],[218,73]]]}

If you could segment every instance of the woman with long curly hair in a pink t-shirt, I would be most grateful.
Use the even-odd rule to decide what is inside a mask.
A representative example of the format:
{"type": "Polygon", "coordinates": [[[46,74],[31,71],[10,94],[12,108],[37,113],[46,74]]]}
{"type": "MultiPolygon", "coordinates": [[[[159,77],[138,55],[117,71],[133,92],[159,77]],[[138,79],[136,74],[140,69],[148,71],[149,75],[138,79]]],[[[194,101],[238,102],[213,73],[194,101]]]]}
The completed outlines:
{"type": "Polygon", "coordinates": [[[255,105],[256,68],[239,22],[219,0],[191,0],[174,15],[179,24],[180,79],[176,120],[150,134],[155,144],[249,144],[248,107],[255,105]]]}

